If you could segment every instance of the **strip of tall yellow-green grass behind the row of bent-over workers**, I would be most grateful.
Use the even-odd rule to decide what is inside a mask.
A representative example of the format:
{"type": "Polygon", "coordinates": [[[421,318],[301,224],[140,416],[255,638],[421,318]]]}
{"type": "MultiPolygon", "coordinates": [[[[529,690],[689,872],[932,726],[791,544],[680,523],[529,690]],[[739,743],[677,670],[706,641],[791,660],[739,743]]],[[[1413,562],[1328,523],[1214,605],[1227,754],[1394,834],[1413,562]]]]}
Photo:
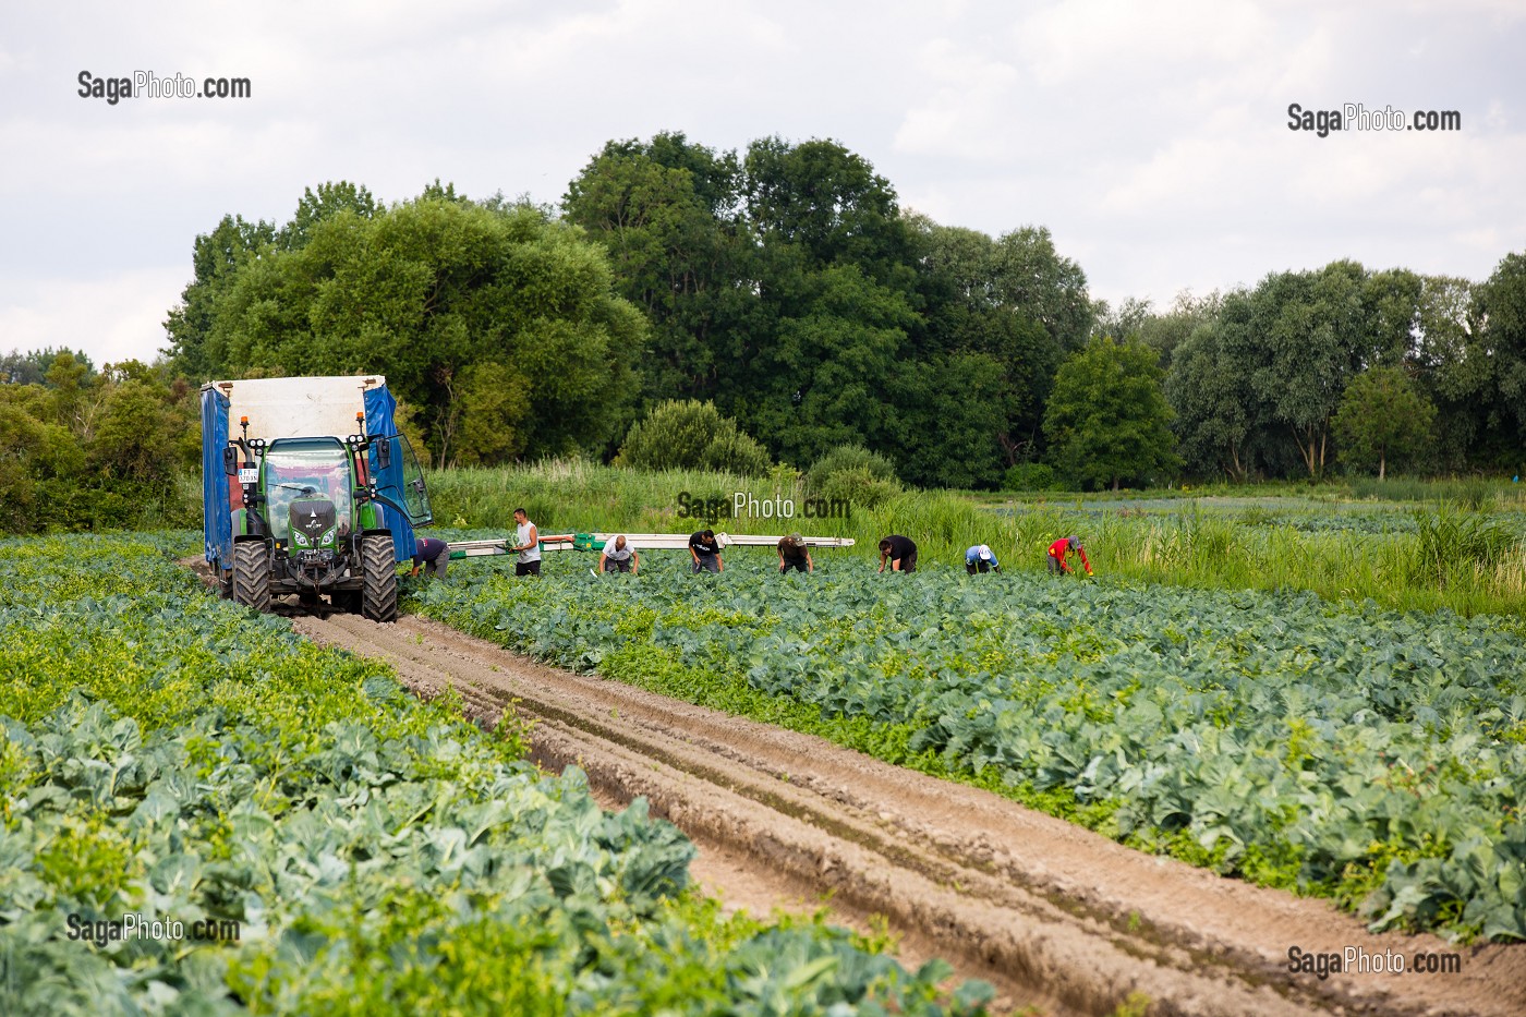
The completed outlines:
{"type": "MultiPolygon", "coordinates": [[[[951,492],[905,492],[845,518],[806,519],[800,478],[623,470],[589,463],[543,463],[516,469],[461,469],[429,478],[443,525],[508,528],[516,507],[543,533],[630,530],[688,533],[713,525],[729,533],[853,538],[833,551],[833,567],[874,560],[879,538],[903,533],[923,562],[961,565],[964,548],[989,544],[1007,570],[1044,568],[1045,547],[1082,538],[1099,577],[1186,586],[1311,589],[1332,600],[1372,599],[1399,609],[1451,608],[1459,614],[1526,617],[1526,550],[1521,534],[1488,515],[1441,505],[1416,512],[1415,533],[1309,533],[1265,508],[1250,518],[1209,512],[1193,501],[1172,512],[1085,508],[1080,498],[992,510],[951,492]],[[734,492],[792,499],[792,519],[722,518],[713,524],[679,516],[679,495],[722,498],[734,492]]],[[[1053,496],[1051,496],[1053,498],[1053,496]]],[[[1308,512],[1308,510],[1303,510],[1308,512]]],[[[819,557],[819,556],[818,556],[819,557]]]]}

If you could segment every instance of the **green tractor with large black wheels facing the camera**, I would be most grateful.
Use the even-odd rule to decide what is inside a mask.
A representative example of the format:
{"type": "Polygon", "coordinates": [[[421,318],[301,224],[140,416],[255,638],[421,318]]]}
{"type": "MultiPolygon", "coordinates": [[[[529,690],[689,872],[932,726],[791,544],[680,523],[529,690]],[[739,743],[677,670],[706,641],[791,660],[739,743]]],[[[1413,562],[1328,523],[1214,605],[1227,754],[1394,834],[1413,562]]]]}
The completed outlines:
{"type": "MultiPolygon", "coordinates": [[[[357,417],[363,431],[363,417],[357,417]]],[[[258,611],[296,594],[313,608],[327,596],[339,611],[372,622],[397,618],[397,562],[383,507],[412,525],[432,522],[429,493],[407,438],[349,435],[262,438],[243,435],[223,449],[223,472],[237,478],[232,568],[223,592],[258,611]],[[401,486],[378,487],[401,461],[401,486]],[[243,496],[238,498],[238,493],[243,496]]],[[[230,484],[232,486],[232,484],[230,484]]]]}

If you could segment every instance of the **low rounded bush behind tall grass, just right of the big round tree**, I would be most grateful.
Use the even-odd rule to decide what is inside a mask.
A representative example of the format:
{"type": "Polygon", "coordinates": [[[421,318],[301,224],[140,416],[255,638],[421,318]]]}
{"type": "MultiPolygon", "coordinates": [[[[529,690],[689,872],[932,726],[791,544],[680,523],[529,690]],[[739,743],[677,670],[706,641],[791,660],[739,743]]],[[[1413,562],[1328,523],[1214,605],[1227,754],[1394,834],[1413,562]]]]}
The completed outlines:
{"type": "Polygon", "coordinates": [[[736,420],[722,417],[714,403],[690,399],[653,406],[626,435],[615,466],[761,476],[774,464],[763,446],[743,434],[736,420]]]}

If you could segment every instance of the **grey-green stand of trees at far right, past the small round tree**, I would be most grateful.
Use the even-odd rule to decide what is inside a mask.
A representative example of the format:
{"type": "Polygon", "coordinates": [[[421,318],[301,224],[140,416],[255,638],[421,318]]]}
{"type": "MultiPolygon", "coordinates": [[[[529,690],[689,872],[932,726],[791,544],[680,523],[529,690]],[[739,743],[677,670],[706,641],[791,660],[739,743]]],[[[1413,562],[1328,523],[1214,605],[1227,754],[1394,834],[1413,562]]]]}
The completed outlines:
{"type": "Polygon", "coordinates": [[[1523,255],[1477,286],[1352,261],[1271,273],[1135,334],[1166,363],[1192,475],[1521,469],[1523,255]]]}

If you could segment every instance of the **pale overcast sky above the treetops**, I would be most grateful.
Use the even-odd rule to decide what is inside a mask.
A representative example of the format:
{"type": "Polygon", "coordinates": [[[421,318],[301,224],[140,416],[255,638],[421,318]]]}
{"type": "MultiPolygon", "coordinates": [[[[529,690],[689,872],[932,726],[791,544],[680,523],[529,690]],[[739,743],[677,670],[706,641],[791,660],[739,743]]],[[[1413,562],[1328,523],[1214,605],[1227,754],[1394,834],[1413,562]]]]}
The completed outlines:
{"type": "Polygon", "coordinates": [[[1526,250],[1526,2],[60,3],[0,12],[0,353],[150,360],[229,212],[435,177],[559,202],[612,137],[832,137],[902,206],[1047,226],[1091,293],[1355,258],[1482,279],[1526,250]],[[81,98],[79,73],[249,99],[81,98]],[[1457,110],[1454,133],[1288,105],[1457,110]]]}

